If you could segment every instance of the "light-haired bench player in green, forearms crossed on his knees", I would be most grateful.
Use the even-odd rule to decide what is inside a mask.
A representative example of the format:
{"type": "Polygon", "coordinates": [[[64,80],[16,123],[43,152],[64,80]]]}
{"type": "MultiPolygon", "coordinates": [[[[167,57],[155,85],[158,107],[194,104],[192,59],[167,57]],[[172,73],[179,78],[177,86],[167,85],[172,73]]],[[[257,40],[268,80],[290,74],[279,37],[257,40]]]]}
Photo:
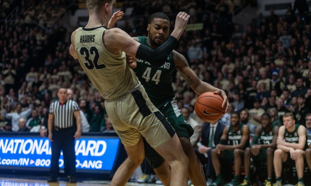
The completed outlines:
{"type": "Polygon", "coordinates": [[[277,149],[274,151],[273,166],[276,183],[273,186],[281,186],[282,164],[295,166],[298,175],[298,183],[295,186],[304,186],[304,158],[306,143],[306,128],[295,124],[294,115],[283,115],[283,126],[280,126],[276,139],[277,149]]]}

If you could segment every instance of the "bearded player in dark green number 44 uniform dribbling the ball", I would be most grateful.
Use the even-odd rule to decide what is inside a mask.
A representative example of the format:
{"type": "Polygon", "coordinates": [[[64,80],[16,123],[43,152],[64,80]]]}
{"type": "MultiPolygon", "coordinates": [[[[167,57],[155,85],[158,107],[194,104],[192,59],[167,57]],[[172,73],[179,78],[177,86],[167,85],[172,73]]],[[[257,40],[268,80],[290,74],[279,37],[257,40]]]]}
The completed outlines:
{"type": "MultiPolygon", "coordinates": [[[[162,12],[151,15],[147,27],[148,36],[138,36],[134,40],[151,47],[158,48],[169,35],[169,17],[162,12]]],[[[128,56],[128,62],[132,58],[128,56]]],[[[134,66],[135,67],[135,66],[134,66]]],[[[139,81],[144,86],[151,102],[163,113],[169,123],[173,126],[177,136],[183,146],[183,151],[189,158],[188,177],[196,186],[206,185],[206,180],[201,163],[194,153],[190,143],[190,137],[193,134],[192,127],[187,124],[183,114],[181,114],[175,100],[175,93],[172,87],[171,78],[174,70],[183,76],[184,80],[191,86],[197,94],[204,92],[214,92],[223,97],[223,107],[228,109],[228,98],[223,90],[215,88],[210,84],[201,81],[197,75],[190,69],[188,61],[177,51],[170,53],[165,63],[161,67],[156,67],[150,62],[137,59],[137,66],[133,68],[139,81]]],[[[151,167],[155,170],[157,176],[164,185],[169,185],[169,166],[165,160],[145,142],[145,155],[151,167]]]]}

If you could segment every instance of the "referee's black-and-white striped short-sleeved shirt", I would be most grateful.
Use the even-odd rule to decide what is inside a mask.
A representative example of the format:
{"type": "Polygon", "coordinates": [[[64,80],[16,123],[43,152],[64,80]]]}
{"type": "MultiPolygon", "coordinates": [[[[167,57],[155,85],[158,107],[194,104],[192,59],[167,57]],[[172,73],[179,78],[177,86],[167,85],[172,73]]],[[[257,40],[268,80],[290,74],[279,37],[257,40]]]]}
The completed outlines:
{"type": "Polygon", "coordinates": [[[54,101],[49,108],[49,113],[54,116],[54,126],[64,129],[72,127],[73,124],[73,112],[79,110],[77,102],[73,100],[67,100],[63,105],[59,103],[59,100],[54,101]]]}

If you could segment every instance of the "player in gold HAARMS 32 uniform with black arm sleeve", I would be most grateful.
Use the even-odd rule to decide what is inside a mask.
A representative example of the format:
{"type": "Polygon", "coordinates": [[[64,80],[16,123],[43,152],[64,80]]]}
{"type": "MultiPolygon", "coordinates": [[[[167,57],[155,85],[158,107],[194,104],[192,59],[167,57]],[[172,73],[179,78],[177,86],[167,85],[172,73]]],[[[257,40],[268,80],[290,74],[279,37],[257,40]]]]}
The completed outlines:
{"type": "Polygon", "coordinates": [[[169,122],[151,103],[144,88],[126,62],[125,52],[155,66],[164,64],[173,50],[189,15],[179,12],[175,29],[158,49],[152,50],[133,40],[121,29],[106,26],[113,0],[87,0],[89,20],[72,33],[70,54],[105,98],[105,108],[128,153],[111,185],[125,185],[145,157],[142,136],[171,167],[171,186],[187,185],[188,159],[169,122]]]}

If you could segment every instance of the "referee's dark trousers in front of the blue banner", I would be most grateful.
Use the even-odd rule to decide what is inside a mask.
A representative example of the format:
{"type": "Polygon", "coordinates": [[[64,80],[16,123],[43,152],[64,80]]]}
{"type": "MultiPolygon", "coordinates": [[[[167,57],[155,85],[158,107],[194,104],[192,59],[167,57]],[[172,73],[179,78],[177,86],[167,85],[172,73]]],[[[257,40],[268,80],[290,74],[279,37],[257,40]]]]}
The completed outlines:
{"type": "Polygon", "coordinates": [[[76,178],[76,155],[75,155],[75,139],[73,135],[75,131],[73,127],[58,129],[53,128],[53,142],[51,142],[51,168],[50,177],[57,178],[59,174],[58,161],[60,151],[63,150],[64,166],[67,174],[71,178],[76,178]]]}

